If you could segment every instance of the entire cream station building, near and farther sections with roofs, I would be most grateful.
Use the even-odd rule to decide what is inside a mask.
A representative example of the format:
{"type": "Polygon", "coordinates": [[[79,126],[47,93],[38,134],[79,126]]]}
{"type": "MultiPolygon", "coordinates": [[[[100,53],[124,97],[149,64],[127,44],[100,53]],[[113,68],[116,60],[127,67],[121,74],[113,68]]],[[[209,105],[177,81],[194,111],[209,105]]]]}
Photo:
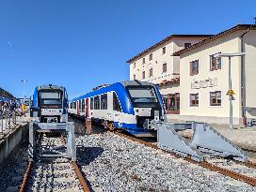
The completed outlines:
{"type": "Polygon", "coordinates": [[[229,60],[232,57],[233,124],[256,119],[256,25],[238,24],[215,36],[172,35],[131,58],[130,80],[159,85],[168,119],[229,124],[229,60]]]}

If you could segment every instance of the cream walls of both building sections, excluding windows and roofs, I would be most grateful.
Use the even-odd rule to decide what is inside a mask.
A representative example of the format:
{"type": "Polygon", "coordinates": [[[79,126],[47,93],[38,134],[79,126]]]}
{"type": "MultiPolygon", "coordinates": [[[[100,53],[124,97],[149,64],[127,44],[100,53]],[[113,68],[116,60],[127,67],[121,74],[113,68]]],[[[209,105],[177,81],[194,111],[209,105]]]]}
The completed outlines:
{"type": "MultiPolygon", "coordinates": [[[[173,56],[173,52],[184,49],[184,43],[192,44],[202,40],[175,38],[170,39],[164,45],[159,46],[152,52],[148,52],[143,57],[136,59],[130,64],[130,80],[151,81],[159,83],[170,81],[173,78],[180,77],[180,83],[160,86],[160,93],[164,96],[168,94],[180,93],[180,114],[168,114],[168,119],[198,121],[215,124],[229,124],[230,102],[227,91],[229,90],[229,60],[221,58],[221,69],[210,70],[210,55],[217,52],[230,53],[241,52],[241,35],[246,30],[240,30],[226,37],[220,37],[210,43],[201,45],[199,48],[184,52],[181,57],[173,56]],[[162,48],[166,46],[166,54],[162,54],[162,48]],[[149,55],[152,53],[152,61],[149,61],[149,55]],[[142,59],[146,63],[142,64],[142,59]],[[190,76],[190,62],[199,59],[199,74],[190,76]],[[134,68],[136,63],[136,68],[134,68]],[[163,64],[167,63],[167,72],[162,73],[163,64]],[[150,68],[152,68],[152,77],[150,78],[150,68]],[[142,79],[142,71],[145,71],[146,78],[142,79]],[[205,83],[206,80],[213,81],[210,86],[205,83]],[[192,83],[201,81],[200,88],[192,88],[192,83]],[[210,92],[221,91],[221,106],[210,106],[210,92]],[[199,93],[199,106],[190,106],[190,94],[199,93]]],[[[245,43],[245,67],[246,67],[246,115],[248,120],[256,118],[256,30],[249,31],[244,36],[245,43]]],[[[234,100],[232,100],[233,123],[235,126],[242,125],[242,104],[241,104],[241,61],[240,57],[232,57],[232,90],[234,91],[234,100]]]]}

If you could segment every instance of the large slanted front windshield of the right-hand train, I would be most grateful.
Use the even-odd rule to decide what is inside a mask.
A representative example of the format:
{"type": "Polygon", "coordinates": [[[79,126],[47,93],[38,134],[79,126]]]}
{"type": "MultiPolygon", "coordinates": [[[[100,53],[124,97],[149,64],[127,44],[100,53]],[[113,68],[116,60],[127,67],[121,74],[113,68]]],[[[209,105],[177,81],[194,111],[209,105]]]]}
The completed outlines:
{"type": "Polygon", "coordinates": [[[152,86],[127,87],[127,91],[135,107],[149,106],[158,102],[155,90],[152,86]]]}

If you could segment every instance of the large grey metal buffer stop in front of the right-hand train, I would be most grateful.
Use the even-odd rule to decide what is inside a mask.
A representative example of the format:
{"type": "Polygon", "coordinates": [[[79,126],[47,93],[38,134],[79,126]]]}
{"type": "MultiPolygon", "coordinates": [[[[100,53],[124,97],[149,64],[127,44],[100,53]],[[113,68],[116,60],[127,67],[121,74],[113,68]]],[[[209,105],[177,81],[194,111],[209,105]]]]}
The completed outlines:
{"type": "Polygon", "coordinates": [[[151,127],[157,130],[159,148],[184,157],[190,156],[195,161],[201,162],[211,156],[228,157],[241,162],[248,161],[248,156],[239,147],[208,124],[152,121],[151,127]],[[186,140],[179,134],[179,131],[187,129],[193,130],[191,140],[186,140]]]}

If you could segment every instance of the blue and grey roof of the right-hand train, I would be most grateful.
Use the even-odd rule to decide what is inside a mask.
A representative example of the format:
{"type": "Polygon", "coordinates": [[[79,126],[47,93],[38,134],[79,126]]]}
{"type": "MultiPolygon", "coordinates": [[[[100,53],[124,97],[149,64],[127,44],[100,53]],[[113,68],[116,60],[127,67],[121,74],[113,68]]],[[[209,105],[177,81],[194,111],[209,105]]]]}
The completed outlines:
{"type": "Polygon", "coordinates": [[[154,85],[153,83],[151,82],[146,82],[146,81],[121,81],[121,82],[115,82],[113,84],[110,84],[110,85],[107,85],[107,86],[104,86],[98,90],[95,90],[95,91],[91,91],[89,92],[88,94],[85,94],[83,96],[77,96],[75,98],[72,98],[72,100],[70,100],[69,102],[72,102],[72,101],[75,101],[75,100],[81,100],[81,99],[84,99],[84,98],[87,98],[87,97],[90,97],[90,96],[98,96],[98,95],[102,95],[106,92],[110,92],[110,91],[114,91],[114,90],[120,90],[121,88],[123,87],[126,87],[126,86],[136,86],[136,85],[154,85]]]}

